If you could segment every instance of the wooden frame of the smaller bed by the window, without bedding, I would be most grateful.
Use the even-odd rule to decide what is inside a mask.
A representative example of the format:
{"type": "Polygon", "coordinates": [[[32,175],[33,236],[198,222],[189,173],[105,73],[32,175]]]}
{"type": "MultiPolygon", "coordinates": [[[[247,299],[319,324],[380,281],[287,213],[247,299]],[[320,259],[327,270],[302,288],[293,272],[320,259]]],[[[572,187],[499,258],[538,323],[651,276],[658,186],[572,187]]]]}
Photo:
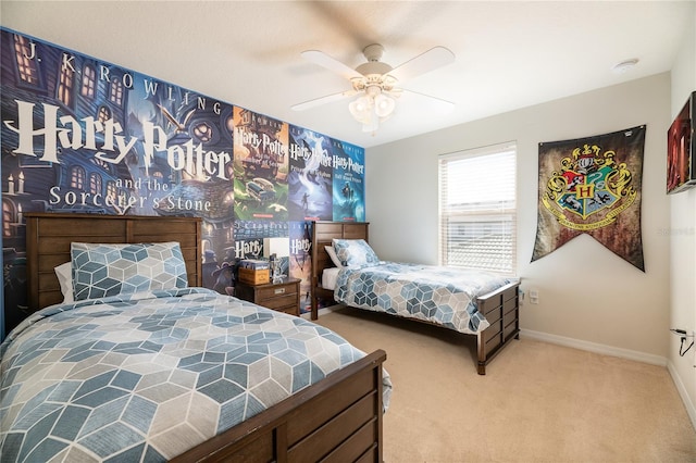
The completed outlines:
{"type": "MultiPolygon", "coordinates": [[[[314,222],[312,224],[312,272],[311,272],[311,313],[312,320],[319,317],[319,300],[334,300],[334,291],[321,285],[324,268],[334,267],[334,263],[324,249],[335,239],[364,239],[369,236],[368,222],[314,222]]],[[[477,298],[478,310],[490,326],[476,335],[476,371],[486,374],[486,365],[512,339],[520,338],[519,283],[512,283],[477,298]]],[[[409,318],[411,320],[411,318],[409,318]]],[[[431,322],[412,318],[418,322],[431,322]]],[[[433,324],[436,325],[436,324],[433,324]]],[[[440,325],[436,325],[440,326],[440,325]]]]}

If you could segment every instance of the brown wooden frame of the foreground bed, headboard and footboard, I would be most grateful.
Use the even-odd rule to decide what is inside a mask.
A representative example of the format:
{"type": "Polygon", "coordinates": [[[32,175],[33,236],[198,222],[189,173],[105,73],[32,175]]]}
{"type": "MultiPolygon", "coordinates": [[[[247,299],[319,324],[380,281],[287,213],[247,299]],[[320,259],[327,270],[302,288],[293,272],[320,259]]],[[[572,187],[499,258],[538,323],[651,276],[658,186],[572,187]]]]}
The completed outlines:
{"type": "MultiPolygon", "coordinates": [[[[32,312],[63,300],[53,267],[70,261],[70,243],[178,241],[189,286],[201,285],[198,217],[27,213],[32,312]]],[[[172,461],[382,462],[383,350],[328,375],[172,461]]]]}

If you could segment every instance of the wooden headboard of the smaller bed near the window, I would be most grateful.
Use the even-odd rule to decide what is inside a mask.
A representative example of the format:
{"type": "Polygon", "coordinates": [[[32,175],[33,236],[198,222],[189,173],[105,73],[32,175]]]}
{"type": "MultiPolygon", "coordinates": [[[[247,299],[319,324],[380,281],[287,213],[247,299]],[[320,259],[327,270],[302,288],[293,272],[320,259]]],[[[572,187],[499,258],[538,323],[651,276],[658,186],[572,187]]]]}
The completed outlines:
{"type": "Polygon", "coordinates": [[[334,299],[333,291],[322,288],[321,278],[324,268],[334,267],[334,263],[324,249],[332,246],[333,239],[364,239],[368,241],[369,222],[313,222],[312,223],[312,320],[319,317],[319,298],[334,299]]]}

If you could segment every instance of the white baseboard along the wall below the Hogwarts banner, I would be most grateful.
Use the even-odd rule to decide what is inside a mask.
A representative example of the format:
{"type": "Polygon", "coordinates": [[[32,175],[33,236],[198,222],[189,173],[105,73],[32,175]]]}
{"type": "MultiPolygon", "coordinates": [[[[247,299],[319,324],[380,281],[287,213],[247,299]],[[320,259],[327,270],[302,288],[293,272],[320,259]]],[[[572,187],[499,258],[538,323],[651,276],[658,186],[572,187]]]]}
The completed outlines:
{"type": "Polygon", "coordinates": [[[654,355],[650,353],[638,352],[630,349],[621,349],[612,346],[600,345],[596,342],[583,341],[581,339],[567,338],[564,336],[558,335],[549,335],[548,333],[533,331],[531,329],[521,329],[520,336],[535,339],[538,341],[549,342],[559,346],[566,346],[574,349],[586,350],[589,352],[601,353],[605,355],[619,356],[621,359],[635,360],[636,362],[649,363],[651,365],[666,366],[667,371],[670,373],[672,377],[672,381],[679,391],[680,397],[682,398],[682,402],[684,403],[684,408],[686,409],[686,413],[696,429],[696,408],[692,402],[688,393],[686,392],[686,387],[682,381],[682,378],[676,373],[676,368],[672,362],[668,361],[666,358],[660,355],[654,355]]]}

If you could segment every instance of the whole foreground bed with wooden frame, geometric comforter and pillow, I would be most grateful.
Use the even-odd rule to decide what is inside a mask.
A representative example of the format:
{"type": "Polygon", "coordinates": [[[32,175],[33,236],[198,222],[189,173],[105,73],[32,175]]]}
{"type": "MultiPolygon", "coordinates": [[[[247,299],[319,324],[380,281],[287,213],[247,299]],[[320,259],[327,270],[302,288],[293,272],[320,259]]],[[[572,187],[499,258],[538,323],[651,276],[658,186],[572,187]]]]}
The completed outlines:
{"type": "Polygon", "coordinates": [[[29,313],[0,347],[3,462],[382,461],[385,352],[201,288],[199,218],[26,224],[29,313]]]}

